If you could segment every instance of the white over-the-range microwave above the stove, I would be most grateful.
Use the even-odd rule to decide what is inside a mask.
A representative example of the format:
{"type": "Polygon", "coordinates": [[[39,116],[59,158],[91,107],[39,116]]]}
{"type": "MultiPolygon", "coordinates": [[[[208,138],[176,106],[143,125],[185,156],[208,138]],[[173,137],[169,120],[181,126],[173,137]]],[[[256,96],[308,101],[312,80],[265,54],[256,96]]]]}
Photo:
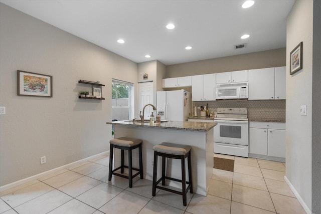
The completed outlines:
{"type": "Polygon", "coordinates": [[[229,83],[216,85],[216,99],[247,99],[248,83],[229,83]]]}

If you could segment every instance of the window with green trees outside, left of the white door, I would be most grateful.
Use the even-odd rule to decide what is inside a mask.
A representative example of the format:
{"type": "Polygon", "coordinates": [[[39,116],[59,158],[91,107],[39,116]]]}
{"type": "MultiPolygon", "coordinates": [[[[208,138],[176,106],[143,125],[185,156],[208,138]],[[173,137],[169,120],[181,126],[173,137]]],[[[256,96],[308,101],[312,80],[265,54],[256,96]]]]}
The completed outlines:
{"type": "Polygon", "coordinates": [[[133,83],[112,79],[112,119],[129,120],[134,115],[133,83]]]}

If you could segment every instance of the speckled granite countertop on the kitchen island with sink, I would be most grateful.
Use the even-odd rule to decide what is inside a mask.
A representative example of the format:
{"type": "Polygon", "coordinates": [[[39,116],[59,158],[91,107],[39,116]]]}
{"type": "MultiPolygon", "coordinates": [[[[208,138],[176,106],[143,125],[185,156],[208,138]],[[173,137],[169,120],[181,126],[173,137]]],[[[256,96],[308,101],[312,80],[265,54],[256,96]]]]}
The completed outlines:
{"type": "Polygon", "coordinates": [[[148,122],[141,123],[141,122],[132,122],[129,120],[123,120],[123,121],[106,122],[106,124],[205,132],[205,131],[209,131],[214,126],[216,126],[217,122],[207,123],[207,122],[169,121],[164,123],[148,123],[148,122]]]}

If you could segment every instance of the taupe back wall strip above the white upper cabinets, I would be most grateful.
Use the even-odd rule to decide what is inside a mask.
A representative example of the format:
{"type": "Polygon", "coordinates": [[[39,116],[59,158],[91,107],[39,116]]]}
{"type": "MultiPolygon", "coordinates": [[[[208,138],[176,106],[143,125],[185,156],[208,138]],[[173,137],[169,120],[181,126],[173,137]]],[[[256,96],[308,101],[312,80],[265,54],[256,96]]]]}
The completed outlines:
{"type": "Polygon", "coordinates": [[[166,67],[165,78],[285,66],[285,48],[166,67]]]}

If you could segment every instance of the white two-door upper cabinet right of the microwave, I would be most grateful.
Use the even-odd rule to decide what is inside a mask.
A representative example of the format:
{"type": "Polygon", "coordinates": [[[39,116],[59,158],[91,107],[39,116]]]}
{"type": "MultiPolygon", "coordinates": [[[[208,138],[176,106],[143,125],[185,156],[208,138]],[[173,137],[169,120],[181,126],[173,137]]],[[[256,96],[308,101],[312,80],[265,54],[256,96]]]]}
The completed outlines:
{"type": "Polygon", "coordinates": [[[249,70],[249,100],[285,99],[285,73],[285,67],[249,70]]]}

